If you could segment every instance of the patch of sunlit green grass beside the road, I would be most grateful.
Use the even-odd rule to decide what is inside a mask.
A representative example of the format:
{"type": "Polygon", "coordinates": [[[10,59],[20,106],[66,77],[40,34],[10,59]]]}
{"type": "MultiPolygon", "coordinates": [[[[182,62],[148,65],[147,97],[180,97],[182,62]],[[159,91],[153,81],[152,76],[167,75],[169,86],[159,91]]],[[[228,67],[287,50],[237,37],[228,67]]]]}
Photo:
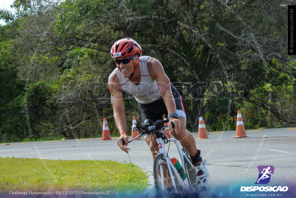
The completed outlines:
{"type": "Polygon", "coordinates": [[[134,164],[98,160],[44,162],[48,170],[41,159],[0,158],[0,192],[132,190],[140,194],[148,185],[146,173],[134,164]]]}

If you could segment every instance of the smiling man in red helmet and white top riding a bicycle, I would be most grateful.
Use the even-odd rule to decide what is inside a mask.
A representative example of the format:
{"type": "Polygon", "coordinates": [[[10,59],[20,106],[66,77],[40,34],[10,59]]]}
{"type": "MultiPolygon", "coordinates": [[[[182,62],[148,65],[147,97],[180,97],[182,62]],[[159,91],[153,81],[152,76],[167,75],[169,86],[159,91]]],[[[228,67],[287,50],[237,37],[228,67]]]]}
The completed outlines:
{"type": "MultiPolygon", "coordinates": [[[[139,102],[142,123],[147,118],[152,121],[163,119],[163,115],[167,115],[169,119],[170,130],[170,122],[174,123],[176,135],[172,133],[173,137],[177,140],[183,139],[180,143],[192,158],[192,164],[197,172],[198,184],[200,187],[206,186],[209,179],[205,167],[206,161],[202,160],[193,135],[186,130],[186,114],[181,96],[170,83],[163,66],[155,58],[142,56],[141,46],[131,38],[120,39],[115,42],[110,53],[117,66],[109,76],[108,85],[111,92],[115,123],[120,132],[120,137],[117,140],[119,147],[126,153],[130,150],[120,143],[120,140],[124,139],[125,146],[128,145],[122,95],[122,91],[124,91],[133,95],[139,102]]],[[[156,155],[154,145],[157,145],[157,142],[155,137],[151,136],[146,136],[145,140],[154,157],[156,155]]]]}

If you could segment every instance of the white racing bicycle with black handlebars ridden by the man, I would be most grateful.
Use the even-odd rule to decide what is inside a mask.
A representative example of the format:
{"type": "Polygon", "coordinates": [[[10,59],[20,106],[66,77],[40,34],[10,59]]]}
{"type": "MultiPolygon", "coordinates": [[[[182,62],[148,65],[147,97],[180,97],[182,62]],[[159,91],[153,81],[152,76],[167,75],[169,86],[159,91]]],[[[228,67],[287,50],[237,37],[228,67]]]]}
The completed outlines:
{"type": "MultiPolygon", "coordinates": [[[[153,162],[153,177],[154,184],[158,194],[161,195],[172,195],[172,194],[182,194],[186,193],[186,191],[191,191],[197,193],[198,185],[196,178],[196,171],[192,165],[191,158],[189,153],[184,149],[180,148],[178,140],[174,137],[167,139],[165,137],[164,129],[167,126],[164,126],[164,123],[167,123],[169,120],[157,120],[155,123],[150,119],[146,119],[144,123],[140,125],[133,124],[132,130],[142,131],[138,136],[134,137],[129,142],[132,142],[138,137],[142,137],[145,134],[155,134],[155,138],[157,141],[157,145],[159,148],[159,153],[155,147],[156,156],[153,162]],[[179,163],[181,164],[185,174],[184,176],[181,170],[177,170],[173,165],[168,153],[165,151],[164,145],[169,143],[168,151],[170,148],[170,141],[173,141],[176,144],[177,152],[179,156],[179,163]]],[[[174,128],[173,123],[171,123],[172,129],[174,128]]],[[[175,131],[173,130],[175,133],[175,131]]],[[[176,133],[175,133],[176,134],[176,133]]],[[[152,137],[151,137],[152,138],[152,137]]],[[[125,145],[125,141],[121,139],[121,143],[123,146],[125,145]]],[[[173,159],[173,158],[172,158],[173,159]]],[[[176,162],[175,159],[173,161],[176,162]]]]}

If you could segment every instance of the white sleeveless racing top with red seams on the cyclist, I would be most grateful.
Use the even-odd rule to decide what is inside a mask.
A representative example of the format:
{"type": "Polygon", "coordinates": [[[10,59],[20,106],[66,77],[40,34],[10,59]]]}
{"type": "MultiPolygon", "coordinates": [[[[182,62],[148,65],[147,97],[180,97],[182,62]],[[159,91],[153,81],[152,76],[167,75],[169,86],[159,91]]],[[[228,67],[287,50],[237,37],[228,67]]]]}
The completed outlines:
{"type": "MultiPolygon", "coordinates": [[[[141,82],[139,85],[133,84],[128,78],[122,76],[118,68],[115,68],[115,73],[119,79],[121,90],[133,95],[139,103],[148,104],[160,98],[160,92],[156,80],[152,80],[149,74],[147,60],[149,56],[139,57],[139,67],[141,74],[141,82]]],[[[130,99],[131,97],[129,97],[130,99]]],[[[133,98],[133,97],[132,97],[133,98]]]]}

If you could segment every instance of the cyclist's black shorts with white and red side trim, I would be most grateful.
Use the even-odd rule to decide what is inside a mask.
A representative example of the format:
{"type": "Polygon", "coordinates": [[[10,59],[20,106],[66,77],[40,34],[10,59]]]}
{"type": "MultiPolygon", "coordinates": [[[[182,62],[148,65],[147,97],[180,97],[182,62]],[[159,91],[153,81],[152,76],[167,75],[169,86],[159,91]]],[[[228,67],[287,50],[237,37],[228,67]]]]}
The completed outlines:
{"type": "MultiPolygon", "coordinates": [[[[175,98],[177,114],[179,113],[178,115],[184,116],[186,118],[185,110],[184,110],[179,92],[173,86],[172,83],[170,83],[170,87],[172,89],[172,92],[175,98]],[[181,111],[183,111],[184,113],[181,111]]],[[[165,103],[162,97],[148,104],[139,103],[139,113],[140,113],[141,123],[144,123],[145,119],[147,118],[155,122],[157,120],[162,120],[163,115],[165,115],[166,118],[168,117],[168,110],[165,106],[165,103]]]]}

